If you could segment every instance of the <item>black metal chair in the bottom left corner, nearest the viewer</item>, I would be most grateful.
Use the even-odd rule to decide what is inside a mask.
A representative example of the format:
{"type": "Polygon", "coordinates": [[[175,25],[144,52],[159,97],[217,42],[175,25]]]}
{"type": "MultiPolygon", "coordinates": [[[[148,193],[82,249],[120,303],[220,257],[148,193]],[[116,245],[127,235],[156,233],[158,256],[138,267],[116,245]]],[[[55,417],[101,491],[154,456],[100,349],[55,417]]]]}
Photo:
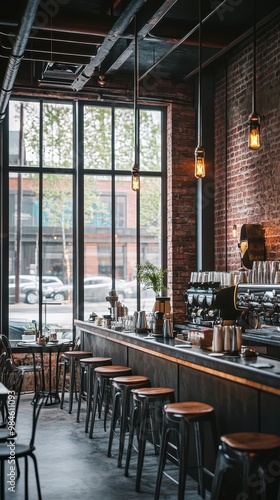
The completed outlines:
{"type": "MultiPolygon", "coordinates": [[[[11,447],[13,446],[14,450],[14,460],[15,465],[16,461],[21,458],[24,459],[24,498],[25,500],[29,500],[31,496],[29,496],[29,488],[28,488],[28,459],[31,458],[34,464],[34,471],[36,477],[36,485],[37,485],[37,496],[39,500],[42,500],[40,480],[39,480],[39,471],[37,459],[35,456],[35,435],[36,428],[38,423],[39,414],[44,403],[44,397],[37,393],[36,398],[34,399],[34,404],[32,406],[32,425],[31,425],[31,437],[28,443],[21,443],[20,437],[17,436],[17,439],[13,437],[9,439],[9,442],[0,443],[0,492],[1,492],[1,500],[5,500],[5,487],[7,485],[6,476],[5,476],[5,462],[9,462],[11,460],[11,447]],[[7,446],[9,444],[9,446],[7,446]]],[[[11,464],[10,464],[11,465],[11,464]]],[[[32,494],[32,498],[34,495],[32,494]]]]}

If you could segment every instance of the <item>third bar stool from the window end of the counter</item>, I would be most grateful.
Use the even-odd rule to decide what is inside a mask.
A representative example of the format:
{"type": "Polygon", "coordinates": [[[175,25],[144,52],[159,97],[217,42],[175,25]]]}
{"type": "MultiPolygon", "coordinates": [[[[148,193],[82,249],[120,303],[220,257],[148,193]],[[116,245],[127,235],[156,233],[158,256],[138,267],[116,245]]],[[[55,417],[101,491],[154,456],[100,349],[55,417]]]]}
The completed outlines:
{"type": "Polygon", "coordinates": [[[109,412],[110,399],[112,397],[112,379],[123,375],[132,375],[132,369],[122,365],[100,366],[94,369],[95,379],[93,388],[93,404],[89,438],[93,437],[93,427],[97,406],[99,406],[99,418],[101,416],[102,405],[105,397],[104,408],[104,431],[106,431],[107,414],[109,412]]]}

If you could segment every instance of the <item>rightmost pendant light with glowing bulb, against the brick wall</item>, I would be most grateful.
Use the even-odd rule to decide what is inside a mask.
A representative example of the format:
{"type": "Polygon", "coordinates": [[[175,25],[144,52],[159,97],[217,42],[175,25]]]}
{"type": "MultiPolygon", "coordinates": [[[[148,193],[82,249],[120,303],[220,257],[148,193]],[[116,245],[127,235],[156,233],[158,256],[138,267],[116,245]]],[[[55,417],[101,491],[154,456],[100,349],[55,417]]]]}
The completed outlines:
{"type": "Polygon", "coordinates": [[[256,113],[256,0],[253,0],[253,93],[252,113],[249,116],[248,146],[250,149],[260,147],[261,119],[256,113]]]}

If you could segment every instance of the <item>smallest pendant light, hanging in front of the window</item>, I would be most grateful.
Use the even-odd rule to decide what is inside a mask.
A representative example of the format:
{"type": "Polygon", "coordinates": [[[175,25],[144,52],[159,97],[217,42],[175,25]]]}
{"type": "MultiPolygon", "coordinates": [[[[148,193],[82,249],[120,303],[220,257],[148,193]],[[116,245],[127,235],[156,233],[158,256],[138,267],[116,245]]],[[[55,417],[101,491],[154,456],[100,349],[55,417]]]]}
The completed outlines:
{"type": "Polygon", "coordinates": [[[134,17],[134,166],[132,169],[132,178],[131,178],[131,189],[133,191],[140,190],[138,93],[139,93],[138,36],[137,36],[137,20],[135,16],[134,17]]]}

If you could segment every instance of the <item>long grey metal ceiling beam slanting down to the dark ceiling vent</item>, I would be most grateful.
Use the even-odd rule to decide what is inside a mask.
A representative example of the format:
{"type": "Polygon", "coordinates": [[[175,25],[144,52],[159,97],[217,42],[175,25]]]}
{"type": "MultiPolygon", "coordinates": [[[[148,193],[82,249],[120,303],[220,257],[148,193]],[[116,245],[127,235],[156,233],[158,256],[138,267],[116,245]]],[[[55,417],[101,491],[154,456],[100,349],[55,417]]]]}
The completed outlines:
{"type": "Polygon", "coordinates": [[[82,73],[76,78],[72,84],[73,90],[81,90],[90,80],[95,68],[100,66],[111,48],[114,46],[119,36],[124,32],[127,26],[131,23],[135,14],[144,5],[146,0],[131,0],[123,13],[119,16],[108,35],[105,37],[102,45],[98,49],[96,56],[92,57],[89,64],[84,68],[82,73]]]}

